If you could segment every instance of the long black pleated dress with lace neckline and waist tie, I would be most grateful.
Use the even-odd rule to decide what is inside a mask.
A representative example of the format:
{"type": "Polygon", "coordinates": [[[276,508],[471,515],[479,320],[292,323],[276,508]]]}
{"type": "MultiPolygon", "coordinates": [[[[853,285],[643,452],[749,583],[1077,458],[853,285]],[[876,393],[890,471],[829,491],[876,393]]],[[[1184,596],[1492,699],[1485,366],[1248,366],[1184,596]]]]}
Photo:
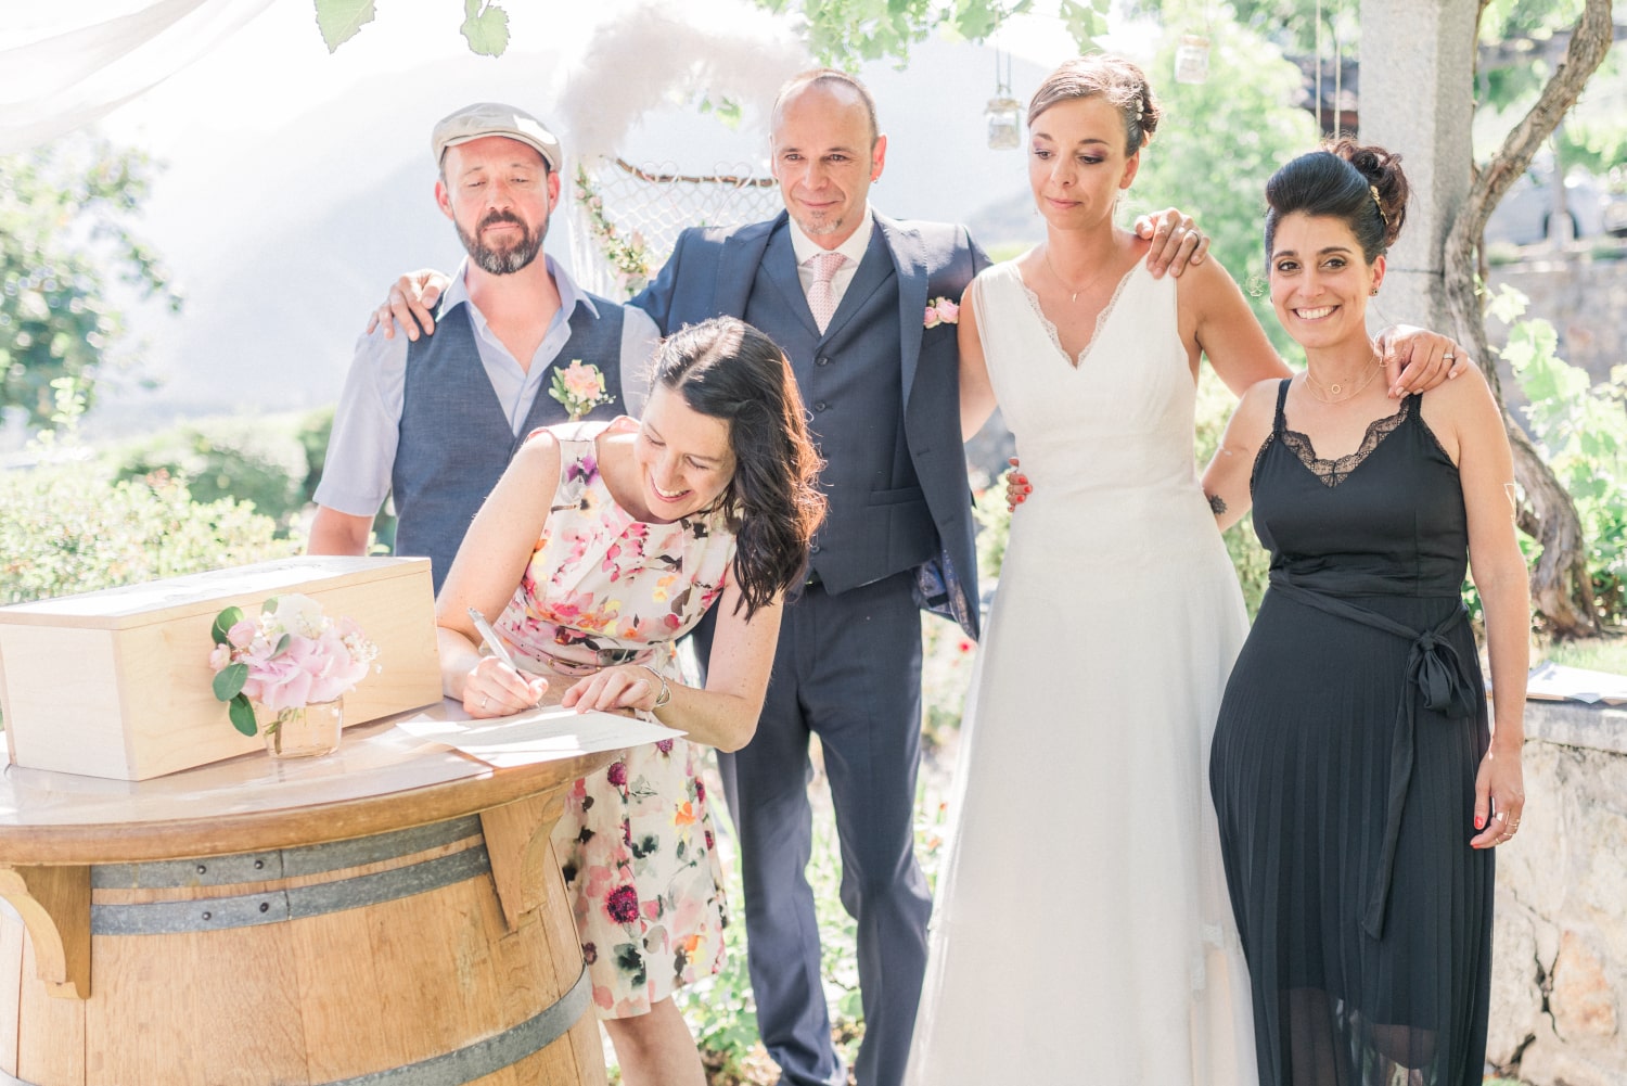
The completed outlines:
{"type": "Polygon", "coordinates": [[[1254,461],[1271,588],[1209,780],[1266,1086],[1479,1086],[1492,852],[1469,848],[1489,729],[1461,602],[1468,518],[1419,397],[1316,459],[1254,461]]]}

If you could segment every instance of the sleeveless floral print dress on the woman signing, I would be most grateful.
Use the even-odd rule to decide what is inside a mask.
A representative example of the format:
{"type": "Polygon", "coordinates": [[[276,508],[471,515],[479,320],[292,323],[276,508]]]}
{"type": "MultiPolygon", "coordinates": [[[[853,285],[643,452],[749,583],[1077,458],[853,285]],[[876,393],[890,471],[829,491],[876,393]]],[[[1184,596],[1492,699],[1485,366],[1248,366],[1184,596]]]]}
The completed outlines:
{"type": "MultiPolygon", "coordinates": [[[[729,578],[734,536],[721,513],[652,524],[610,497],[594,438],[633,425],[550,428],[560,487],[496,628],[521,666],[553,676],[556,690],[618,663],[672,676],[674,640],[729,578]]],[[[722,966],[727,910],[704,757],[685,739],[633,747],[566,798],[553,847],[600,1018],[644,1014],[722,966]]]]}

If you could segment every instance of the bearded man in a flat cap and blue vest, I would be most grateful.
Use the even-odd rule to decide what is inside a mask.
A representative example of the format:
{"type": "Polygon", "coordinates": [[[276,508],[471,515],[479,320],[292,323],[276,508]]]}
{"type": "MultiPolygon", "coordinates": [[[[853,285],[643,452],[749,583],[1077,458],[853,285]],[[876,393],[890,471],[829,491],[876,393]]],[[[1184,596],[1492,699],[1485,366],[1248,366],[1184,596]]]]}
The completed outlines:
{"type": "Polygon", "coordinates": [[[560,204],[560,142],[530,114],[465,106],[434,125],[434,200],[469,257],[434,334],[363,335],[334,415],[311,554],[366,554],[395,500],[395,554],[428,555],[434,589],[486,493],[537,427],[638,414],[659,335],[589,295],[542,251],[560,204]],[[540,259],[539,259],[540,257],[540,259]],[[630,392],[631,402],[630,402],[630,392]]]}

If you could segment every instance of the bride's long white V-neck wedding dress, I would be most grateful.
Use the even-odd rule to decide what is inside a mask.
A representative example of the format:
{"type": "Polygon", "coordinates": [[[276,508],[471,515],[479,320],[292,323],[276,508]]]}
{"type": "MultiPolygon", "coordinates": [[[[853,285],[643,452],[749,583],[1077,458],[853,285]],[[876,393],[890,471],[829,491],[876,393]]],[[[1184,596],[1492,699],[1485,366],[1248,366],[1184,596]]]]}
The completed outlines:
{"type": "Polygon", "coordinates": [[[1175,280],[1137,264],[1077,361],[1015,264],[973,298],[1033,493],[968,694],[906,1083],[1254,1083],[1207,785],[1246,615],[1175,280]]]}

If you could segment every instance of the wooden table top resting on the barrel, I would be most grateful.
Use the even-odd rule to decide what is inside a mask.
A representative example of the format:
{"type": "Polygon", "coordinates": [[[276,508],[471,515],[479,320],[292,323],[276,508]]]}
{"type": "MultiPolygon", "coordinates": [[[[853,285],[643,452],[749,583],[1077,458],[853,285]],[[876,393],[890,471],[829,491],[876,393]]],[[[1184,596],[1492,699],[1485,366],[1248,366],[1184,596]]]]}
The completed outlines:
{"type": "Polygon", "coordinates": [[[8,765],[0,865],[181,860],[366,837],[548,791],[617,757],[493,769],[394,721],[345,728],[338,751],[317,759],[244,754],[143,782],[8,765]]]}

